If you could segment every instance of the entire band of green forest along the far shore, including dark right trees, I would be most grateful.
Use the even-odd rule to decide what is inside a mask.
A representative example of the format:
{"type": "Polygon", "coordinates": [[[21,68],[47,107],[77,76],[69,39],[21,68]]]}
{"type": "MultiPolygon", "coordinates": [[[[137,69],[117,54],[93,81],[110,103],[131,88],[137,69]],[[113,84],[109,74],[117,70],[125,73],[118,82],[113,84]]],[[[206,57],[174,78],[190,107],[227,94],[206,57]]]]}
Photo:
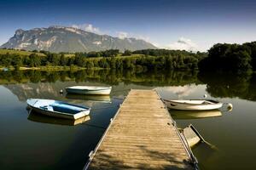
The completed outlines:
{"type": "Polygon", "coordinates": [[[109,49],[89,53],[50,53],[0,49],[0,67],[19,70],[20,67],[62,66],[86,69],[147,71],[256,71],[256,42],[243,44],[218,43],[207,53],[185,50],[143,49],[137,51],[109,49]],[[5,53],[3,53],[3,51],[5,53]],[[15,53],[16,52],[16,53],[15,53]]]}

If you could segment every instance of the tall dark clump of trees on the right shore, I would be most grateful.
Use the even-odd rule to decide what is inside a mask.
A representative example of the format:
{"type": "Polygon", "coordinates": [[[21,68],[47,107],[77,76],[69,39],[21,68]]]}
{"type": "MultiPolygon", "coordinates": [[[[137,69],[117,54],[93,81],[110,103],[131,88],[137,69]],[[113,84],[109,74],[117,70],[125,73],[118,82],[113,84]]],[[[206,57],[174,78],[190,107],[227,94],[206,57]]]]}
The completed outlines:
{"type": "Polygon", "coordinates": [[[215,44],[198,65],[200,71],[256,71],[256,42],[215,44]]]}

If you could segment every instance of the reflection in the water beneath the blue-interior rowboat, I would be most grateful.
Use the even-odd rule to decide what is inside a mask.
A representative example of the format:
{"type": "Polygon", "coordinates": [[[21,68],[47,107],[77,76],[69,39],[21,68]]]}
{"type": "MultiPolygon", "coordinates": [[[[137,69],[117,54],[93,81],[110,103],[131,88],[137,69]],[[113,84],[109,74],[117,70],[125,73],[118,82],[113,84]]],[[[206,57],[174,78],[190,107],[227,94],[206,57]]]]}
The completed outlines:
{"type": "Polygon", "coordinates": [[[31,112],[27,117],[27,119],[32,122],[43,122],[43,123],[49,123],[49,124],[74,126],[74,125],[89,121],[90,116],[84,116],[76,120],[71,120],[71,119],[62,119],[62,118],[44,116],[44,115],[38,114],[37,112],[31,112]]]}

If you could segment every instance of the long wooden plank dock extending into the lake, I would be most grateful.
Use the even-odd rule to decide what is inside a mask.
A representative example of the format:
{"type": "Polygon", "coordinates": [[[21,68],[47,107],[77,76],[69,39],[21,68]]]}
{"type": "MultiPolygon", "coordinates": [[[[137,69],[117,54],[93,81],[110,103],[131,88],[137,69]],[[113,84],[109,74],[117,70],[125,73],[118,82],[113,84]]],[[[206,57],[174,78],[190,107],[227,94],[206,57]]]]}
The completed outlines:
{"type": "Polygon", "coordinates": [[[195,169],[154,90],[131,90],[84,169],[195,169]]]}

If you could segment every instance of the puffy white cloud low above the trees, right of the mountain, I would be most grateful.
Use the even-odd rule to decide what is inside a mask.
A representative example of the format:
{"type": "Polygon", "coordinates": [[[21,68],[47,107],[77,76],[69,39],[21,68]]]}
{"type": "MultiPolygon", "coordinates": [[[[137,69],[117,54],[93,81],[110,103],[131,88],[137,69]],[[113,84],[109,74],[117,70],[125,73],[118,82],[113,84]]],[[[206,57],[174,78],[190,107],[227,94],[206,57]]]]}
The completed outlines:
{"type": "Polygon", "coordinates": [[[192,40],[180,37],[177,42],[172,42],[170,44],[167,44],[165,48],[168,49],[181,49],[181,50],[187,50],[187,51],[197,51],[198,45],[193,42],[192,40]]]}

